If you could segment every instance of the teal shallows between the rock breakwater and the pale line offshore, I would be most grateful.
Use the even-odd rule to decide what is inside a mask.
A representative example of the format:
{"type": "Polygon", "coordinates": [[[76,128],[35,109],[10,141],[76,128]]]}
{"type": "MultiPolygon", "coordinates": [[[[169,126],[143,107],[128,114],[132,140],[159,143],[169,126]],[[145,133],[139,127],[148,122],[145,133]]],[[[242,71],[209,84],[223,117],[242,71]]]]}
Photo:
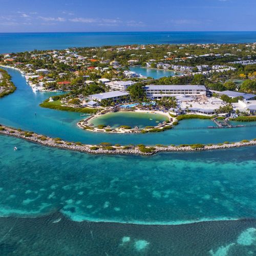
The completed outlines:
{"type": "Polygon", "coordinates": [[[74,221],[255,218],[255,147],[95,156],[3,135],[0,140],[0,216],[36,217],[59,209],[74,221]]]}

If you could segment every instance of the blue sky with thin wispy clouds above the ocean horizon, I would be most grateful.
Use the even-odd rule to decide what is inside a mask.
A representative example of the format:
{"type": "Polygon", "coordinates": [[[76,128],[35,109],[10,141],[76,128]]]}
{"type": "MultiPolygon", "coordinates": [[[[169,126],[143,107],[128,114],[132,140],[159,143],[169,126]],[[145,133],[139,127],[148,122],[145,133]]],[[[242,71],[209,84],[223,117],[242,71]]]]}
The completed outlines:
{"type": "Polygon", "coordinates": [[[256,31],[256,0],[0,0],[0,32],[256,31]]]}

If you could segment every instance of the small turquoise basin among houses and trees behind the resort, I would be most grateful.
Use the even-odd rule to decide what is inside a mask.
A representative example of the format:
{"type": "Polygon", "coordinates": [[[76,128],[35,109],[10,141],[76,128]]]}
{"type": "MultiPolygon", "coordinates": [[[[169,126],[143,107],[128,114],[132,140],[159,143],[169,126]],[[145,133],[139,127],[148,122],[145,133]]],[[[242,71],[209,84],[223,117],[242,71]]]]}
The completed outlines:
{"type": "Polygon", "coordinates": [[[164,76],[174,76],[174,75],[181,75],[180,72],[173,72],[168,70],[159,70],[159,69],[147,69],[142,67],[130,67],[131,71],[136,72],[137,74],[141,74],[146,77],[152,77],[155,79],[159,79],[164,76]]]}

